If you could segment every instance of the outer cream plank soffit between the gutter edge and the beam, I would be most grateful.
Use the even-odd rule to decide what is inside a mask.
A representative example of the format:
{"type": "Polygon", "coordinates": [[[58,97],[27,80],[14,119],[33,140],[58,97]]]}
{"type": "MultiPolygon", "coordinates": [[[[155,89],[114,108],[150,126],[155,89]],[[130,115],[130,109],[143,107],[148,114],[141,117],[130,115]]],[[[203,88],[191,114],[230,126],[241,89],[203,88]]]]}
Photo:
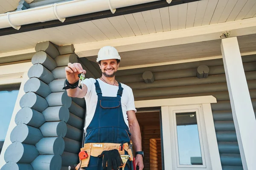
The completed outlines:
{"type": "Polygon", "coordinates": [[[255,0],[200,0],[150,11],[1,36],[0,53],[32,49],[35,48],[36,43],[47,40],[56,45],[81,44],[251,17],[256,17],[255,0]]]}

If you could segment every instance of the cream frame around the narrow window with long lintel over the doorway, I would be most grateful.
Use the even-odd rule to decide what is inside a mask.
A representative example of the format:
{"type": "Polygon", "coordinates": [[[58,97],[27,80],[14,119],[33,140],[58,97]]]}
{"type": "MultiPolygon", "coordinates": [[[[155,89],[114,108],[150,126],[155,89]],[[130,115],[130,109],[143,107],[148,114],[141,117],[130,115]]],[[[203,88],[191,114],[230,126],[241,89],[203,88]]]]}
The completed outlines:
{"type": "Polygon", "coordinates": [[[175,144],[173,145],[172,142],[172,132],[174,131],[174,125],[172,123],[173,117],[171,117],[169,114],[170,108],[181,108],[181,110],[186,110],[186,108],[188,110],[191,108],[200,108],[199,110],[201,111],[201,114],[199,114],[199,122],[201,125],[201,129],[205,131],[203,135],[205,136],[205,139],[203,138],[203,143],[204,145],[206,145],[206,150],[204,150],[204,154],[208,154],[208,156],[205,156],[206,162],[209,162],[209,165],[207,167],[210,167],[210,170],[222,170],[211,109],[211,103],[216,102],[217,100],[213,96],[194,96],[173,99],[135,101],[136,108],[161,107],[163,155],[164,167],[166,170],[205,170],[205,168],[200,167],[188,167],[185,169],[184,167],[177,167],[175,144]]]}

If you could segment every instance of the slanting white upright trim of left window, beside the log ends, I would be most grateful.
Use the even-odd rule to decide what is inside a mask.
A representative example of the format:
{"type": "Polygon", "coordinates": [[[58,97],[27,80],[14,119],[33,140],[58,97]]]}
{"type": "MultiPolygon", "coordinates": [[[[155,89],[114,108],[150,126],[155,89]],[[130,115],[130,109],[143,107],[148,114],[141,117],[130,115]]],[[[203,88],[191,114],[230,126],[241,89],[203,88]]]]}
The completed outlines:
{"type": "Polygon", "coordinates": [[[15,116],[16,116],[17,112],[21,109],[20,108],[20,99],[25,94],[25,92],[23,90],[24,89],[24,84],[29,79],[27,74],[28,74],[28,72],[24,72],[24,74],[23,74],[22,82],[20,84],[20,90],[19,90],[19,93],[18,93],[18,96],[17,96],[17,99],[16,99],[16,103],[15,103],[13,112],[12,112],[12,118],[11,118],[8,130],[7,130],[7,133],[6,133],[6,138],[5,138],[4,143],[3,143],[3,148],[2,148],[2,151],[1,151],[1,154],[0,154],[0,169],[3,167],[4,164],[6,164],[6,162],[4,160],[4,153],[7,149],[7,147],[9,147],[9,145],[12,144],[11,139],[10,139],[10,135],[11,135],[11,132],[12,132],[13,128],[16,126],[15,116]]]}

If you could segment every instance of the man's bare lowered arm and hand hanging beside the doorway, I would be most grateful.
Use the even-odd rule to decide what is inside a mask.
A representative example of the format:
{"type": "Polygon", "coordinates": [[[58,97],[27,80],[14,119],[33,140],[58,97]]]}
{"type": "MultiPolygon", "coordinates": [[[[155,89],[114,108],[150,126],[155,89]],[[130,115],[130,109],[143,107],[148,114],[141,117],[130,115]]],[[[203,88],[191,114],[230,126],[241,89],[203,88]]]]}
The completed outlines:
{"type": "MultiPolygon", "coordinates": [[[[134,146],[134,151],[141,151],[142,145],[141,145],[141,133],[140,133],[140,125],[136,118],[135,111],[127,111],[128,115],[128,122],[129,122],[129,128],[131,132],[131,140],[132,144],[134,146]]],[[[136,156],[135,164],[140,167],[140,170],[143,170],[143,157],[142,155],[136,156]]]]}

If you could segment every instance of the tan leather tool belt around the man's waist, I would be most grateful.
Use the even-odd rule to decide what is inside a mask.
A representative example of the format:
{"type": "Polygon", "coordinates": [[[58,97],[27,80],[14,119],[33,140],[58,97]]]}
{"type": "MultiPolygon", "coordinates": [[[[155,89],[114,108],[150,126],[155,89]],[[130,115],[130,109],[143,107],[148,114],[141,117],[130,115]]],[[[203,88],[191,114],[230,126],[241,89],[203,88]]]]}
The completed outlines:
{"type": "MultiPolygon", "coordinates": [[[[125,155],[125,150],[128,152],[129,160],[133,161],[132,150],[128,143],[116,144],[116,143],[87,143],[81,148],[79,153],[79,159],[81,160],[81,167],[88,167],[90,156],[99,156],[105,150],[118,150],[120,156],[125,155]]],[[[126,162],[121,167],[125,167],[126,162]]]]}

